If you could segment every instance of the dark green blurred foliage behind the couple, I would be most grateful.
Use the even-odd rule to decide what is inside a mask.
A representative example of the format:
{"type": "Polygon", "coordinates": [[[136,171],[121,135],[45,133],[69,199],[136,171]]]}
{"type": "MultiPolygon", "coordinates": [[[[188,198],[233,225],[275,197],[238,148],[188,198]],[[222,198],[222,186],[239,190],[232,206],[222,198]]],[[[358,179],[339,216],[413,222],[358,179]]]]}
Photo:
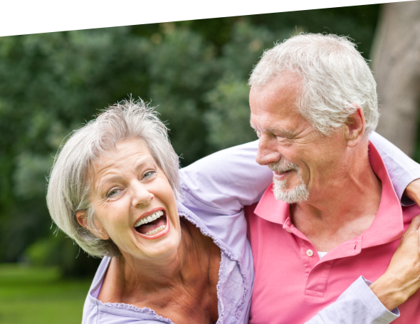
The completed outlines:
{"type": "Polygon", "coordinates": [[[246,83],[265,48],[337,33],[369,58],[378,14],[372,4],[0,37],[0,262],[95,271],[97,260],[53,234],[45,195],[58,147],[98,110],[152,101],[187,166],[256,139],[246,83]]]}

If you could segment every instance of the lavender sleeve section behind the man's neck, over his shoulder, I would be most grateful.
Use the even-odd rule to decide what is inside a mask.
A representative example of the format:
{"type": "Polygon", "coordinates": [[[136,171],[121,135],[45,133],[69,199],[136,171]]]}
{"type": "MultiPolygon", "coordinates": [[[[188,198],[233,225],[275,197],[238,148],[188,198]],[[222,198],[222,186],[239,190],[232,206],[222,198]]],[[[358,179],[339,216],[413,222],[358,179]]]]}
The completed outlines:
{"type": "Polygon", "coordinates": [[[403,192],[410,182],[420,178],[420,164],[411,160],[392,142],[389,142],[377,132],[372,132],[369,135],[369,140],[377,148],[382,160],[384,160],[392,185],[401,200],[401,204],[403,206],[414,204],[409,197],[403,196],[403,192]]]}

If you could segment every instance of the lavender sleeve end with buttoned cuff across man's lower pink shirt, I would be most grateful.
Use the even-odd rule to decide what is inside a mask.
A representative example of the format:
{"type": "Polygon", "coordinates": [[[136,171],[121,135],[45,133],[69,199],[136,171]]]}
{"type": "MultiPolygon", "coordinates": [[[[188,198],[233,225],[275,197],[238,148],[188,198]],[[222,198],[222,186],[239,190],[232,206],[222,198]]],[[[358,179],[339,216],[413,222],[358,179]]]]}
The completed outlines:
{"type": "Polygon", "coordinates": [[[306,324],[388,324],[399,317],[399,310],[390,312],[370,290],[370,281],[362,276],[306,324]]]}

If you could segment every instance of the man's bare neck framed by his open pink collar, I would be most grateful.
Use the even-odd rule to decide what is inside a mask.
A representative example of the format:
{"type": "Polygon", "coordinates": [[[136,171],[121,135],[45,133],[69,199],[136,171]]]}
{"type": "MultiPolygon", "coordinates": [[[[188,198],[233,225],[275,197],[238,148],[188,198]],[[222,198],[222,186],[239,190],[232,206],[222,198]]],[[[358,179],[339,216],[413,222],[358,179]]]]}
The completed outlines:
{"type": "Polygon", "coordinates": [[[309,202],[290,205],[291,220],[317,251],[330,251],[369,228],[381,195],[382,182],[370,166],[366,145],[310,190],[309,202]]]}

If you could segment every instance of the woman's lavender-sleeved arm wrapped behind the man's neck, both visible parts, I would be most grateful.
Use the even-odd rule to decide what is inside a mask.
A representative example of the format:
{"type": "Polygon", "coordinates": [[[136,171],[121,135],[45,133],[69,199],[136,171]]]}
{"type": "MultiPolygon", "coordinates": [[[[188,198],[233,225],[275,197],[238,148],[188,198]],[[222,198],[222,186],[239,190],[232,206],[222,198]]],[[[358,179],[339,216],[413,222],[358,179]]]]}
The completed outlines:
{"type": "MultiPolygon", "coordinates": [[[[409,184],[406,194],[420,202],[420,164],[376,132],[369,139],[384,160],[401,204],[414,204],[403,195],[409,184]]],[[[258,140],[221,150],[181,169],[184,204],[216,216],[237,214],[243,206],[258,202],[273,172],[255,161],[257,150],[258,140]]]]}

